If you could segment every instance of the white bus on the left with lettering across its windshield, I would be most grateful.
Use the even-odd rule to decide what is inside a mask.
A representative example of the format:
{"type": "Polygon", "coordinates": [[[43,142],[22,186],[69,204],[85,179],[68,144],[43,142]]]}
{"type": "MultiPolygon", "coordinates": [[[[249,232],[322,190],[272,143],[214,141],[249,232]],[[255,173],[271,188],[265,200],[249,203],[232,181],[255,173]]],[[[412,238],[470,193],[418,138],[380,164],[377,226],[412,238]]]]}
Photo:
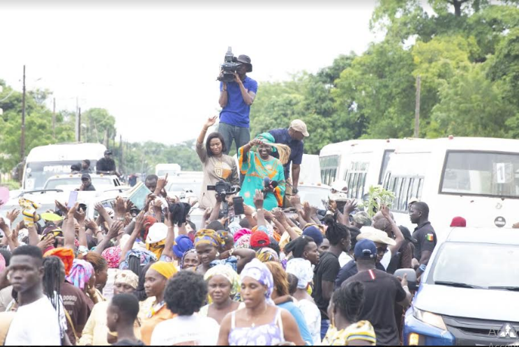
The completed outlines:
{"type": "Polygon", "coordinates": [[[102,144],[52,144],[31,149],[24,167],[23,190],[43,189],[45,182],[55,175],[70,173],[70,166],[90,160],[93,172],[96,163],[105,155],[102,144]]]}

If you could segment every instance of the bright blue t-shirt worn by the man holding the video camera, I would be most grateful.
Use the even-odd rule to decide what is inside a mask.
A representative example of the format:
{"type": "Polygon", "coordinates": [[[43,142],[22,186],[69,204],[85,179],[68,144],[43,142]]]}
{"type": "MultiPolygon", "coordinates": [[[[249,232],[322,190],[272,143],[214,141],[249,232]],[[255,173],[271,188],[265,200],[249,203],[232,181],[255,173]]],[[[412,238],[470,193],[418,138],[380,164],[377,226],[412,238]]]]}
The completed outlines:
{"type": "MultiPolygon", "coordinates": [[[[245,77],[243,86],[246,90],[257,93],[257,82],[245,77]]],[[[223,83],[220,82],[220,91],[223,83]]],[[[220,112],[220,122],[241,128],[249,128],[250,106],[243,101],[240,86],[236,82],[227,82],[227,105],[220,112]]]]}

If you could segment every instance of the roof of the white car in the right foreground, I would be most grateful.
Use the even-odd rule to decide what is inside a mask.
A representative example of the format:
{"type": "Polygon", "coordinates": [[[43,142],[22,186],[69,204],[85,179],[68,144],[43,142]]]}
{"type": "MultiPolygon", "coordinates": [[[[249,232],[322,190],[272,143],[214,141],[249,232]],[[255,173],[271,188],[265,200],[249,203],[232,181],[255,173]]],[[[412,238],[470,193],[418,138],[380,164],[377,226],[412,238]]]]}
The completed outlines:
{"type": "Polygon", "coordinates": [[[453,228],[444,242],[491,243],[519,245],[519,229],[453,228]]]}

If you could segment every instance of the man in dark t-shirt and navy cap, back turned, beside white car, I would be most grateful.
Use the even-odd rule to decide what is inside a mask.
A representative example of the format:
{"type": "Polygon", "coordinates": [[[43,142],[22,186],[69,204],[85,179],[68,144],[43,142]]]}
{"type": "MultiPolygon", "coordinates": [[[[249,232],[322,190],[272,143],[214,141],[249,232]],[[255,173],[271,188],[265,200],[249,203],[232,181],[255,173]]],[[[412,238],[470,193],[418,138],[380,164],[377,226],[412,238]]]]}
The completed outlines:
{"type": "Polygon", "coordinates": [[[376,270],[377,247],[370,240],[357,242],[355,261],[359,273],[344,283],[361,282],[364,285],[365,302],[359,321],[368,321],[373,325],[378,345],[399,346],[395,305],[407,307],[411,303],[407,277],[399,282],[396,277],[376,270]]]}

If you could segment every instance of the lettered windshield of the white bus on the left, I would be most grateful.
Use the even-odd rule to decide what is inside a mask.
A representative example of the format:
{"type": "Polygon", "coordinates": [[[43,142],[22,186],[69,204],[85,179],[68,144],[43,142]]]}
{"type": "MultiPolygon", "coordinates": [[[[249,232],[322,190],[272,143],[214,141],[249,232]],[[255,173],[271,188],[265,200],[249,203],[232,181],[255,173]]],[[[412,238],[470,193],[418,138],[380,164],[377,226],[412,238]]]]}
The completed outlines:
{"type": "MultiPolygon", "coordinates": [[[[25,190],[43,189],[45,182],[52,176],[70,173],[73,164],[80,164],[81,160],[68,160],[59,162],[28,162],[25,170],[25,190]]],[[[90,164],[90,167],[95,163],[90,164]]]]}

